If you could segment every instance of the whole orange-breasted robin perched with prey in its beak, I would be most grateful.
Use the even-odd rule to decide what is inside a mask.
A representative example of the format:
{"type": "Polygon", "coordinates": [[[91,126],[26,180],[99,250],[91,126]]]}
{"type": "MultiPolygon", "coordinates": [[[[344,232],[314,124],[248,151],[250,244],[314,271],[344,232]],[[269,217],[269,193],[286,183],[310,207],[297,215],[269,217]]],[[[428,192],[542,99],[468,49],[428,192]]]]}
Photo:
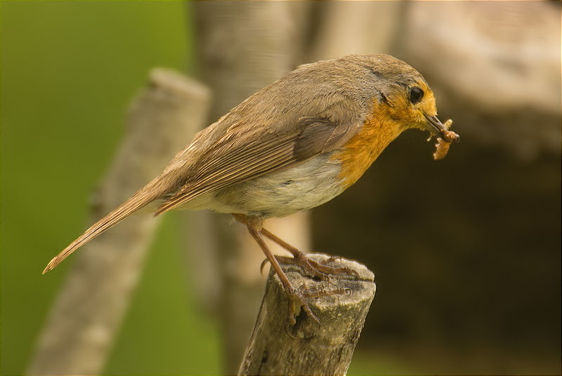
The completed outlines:
{"type": "Polygon", "coordinates": [[[43,273],[149,203],[159,204],[155,215],[210,209],[232,213],[247,226],[285,288],[292,323],[295,304],[314,317],[263,236],[314,275],[349,271],[314,262],[264,229],[263,221],[341,194],[404,130],[458,140],[436,114],[423,76],[392,56],[348,55],[302,65],[197,133],[161,175],[93,224],[43,273]]]}

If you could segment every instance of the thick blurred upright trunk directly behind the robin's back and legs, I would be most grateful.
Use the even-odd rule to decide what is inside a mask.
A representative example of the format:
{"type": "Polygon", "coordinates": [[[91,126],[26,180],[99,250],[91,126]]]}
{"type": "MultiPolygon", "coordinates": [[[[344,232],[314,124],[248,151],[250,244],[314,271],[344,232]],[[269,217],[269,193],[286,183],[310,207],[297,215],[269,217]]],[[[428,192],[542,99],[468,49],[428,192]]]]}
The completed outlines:
{"type": "MultiPolygon", "coordinates": [[[[202,79],[214,93],[213,120],[287,74],[300,60],[308,4],[197,1],[189,6],[195,13],[202,79]]],[[[230,226],[230,217],[214,217],[214,221],[219,234],[216,253],[197,257],[216,257],[221,269],[216,278],[222,281],[218,304],[225,372],[234,374],[259,309],[265,281],[259,271],[263,253],[245,229],[230,226]]],[[[280,236],[291,234],[295,246],[308,249],[306,214],[268,221],[268,228],[280,236]]]]}

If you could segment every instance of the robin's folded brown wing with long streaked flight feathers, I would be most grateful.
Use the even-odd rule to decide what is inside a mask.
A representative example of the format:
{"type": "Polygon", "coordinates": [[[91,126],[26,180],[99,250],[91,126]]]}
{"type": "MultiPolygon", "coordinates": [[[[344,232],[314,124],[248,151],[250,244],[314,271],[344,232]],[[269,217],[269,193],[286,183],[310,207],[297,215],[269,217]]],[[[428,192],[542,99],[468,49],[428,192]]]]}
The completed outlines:
{"type": "MultiPolygon", "coordinates": [[[[341,106],[338,106],[341,109],[341,106]]],[[[333,114],[333,113],[332,113],[333,114]]],[[[197,196],[214,192],[275,170],[287,168],[312,156],[341,147],[360,128],[357,113],[336,116],[303,116],[284,132],[267,132],[254,127],[244,135],[243,126],[230,127],[195,162],[187,182],[156,210],[160,215],[197,196]],[[289,131],[287,131],[289,130],[289,131]]]]}

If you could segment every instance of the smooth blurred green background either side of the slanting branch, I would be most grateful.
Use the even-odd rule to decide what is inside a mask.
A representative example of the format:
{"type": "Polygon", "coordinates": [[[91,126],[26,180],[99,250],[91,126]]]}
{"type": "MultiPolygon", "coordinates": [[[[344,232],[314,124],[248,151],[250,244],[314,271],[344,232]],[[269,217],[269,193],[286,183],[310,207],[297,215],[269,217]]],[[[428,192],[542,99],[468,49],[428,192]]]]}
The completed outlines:
{"type": "MultiPolygon", "coordinates": [[[[150,68],[190,69],[185,4],[2,1],[1,369],[24,372],[84,229],[89,196],[150,68]],[[186,33],[187,30],[187,33],[186,33]]],[[[181,276],[174,214],[159,229],[104,373],[218,373],[218,334],[181,276]]]]}

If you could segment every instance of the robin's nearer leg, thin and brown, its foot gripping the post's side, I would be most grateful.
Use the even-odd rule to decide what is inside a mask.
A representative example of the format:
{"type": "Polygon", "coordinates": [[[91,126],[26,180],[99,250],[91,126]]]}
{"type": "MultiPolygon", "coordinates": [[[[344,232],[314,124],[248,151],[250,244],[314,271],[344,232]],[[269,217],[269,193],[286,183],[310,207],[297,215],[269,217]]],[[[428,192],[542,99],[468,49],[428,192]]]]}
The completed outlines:
{"type": "Polygon", "coordinates": [[[283,269],[281,269],[279,262],[275,259],[275,256],[270,252],[266,242],[263,240],[263,236],[261,236],[261,225],[263,224],[263,220],[259,219],[258,217],[251,217],[246,215],[236,214],[234,215],[236,220],[245,223],[248,227],[248,231],[250,235],[254,238],[256,243],[260,246],[263,253],[266,254],[267,259],[269,260],[270,264],[275,269],[277,276],[285,289],[285,293],[287,293],[287,297],[289,300],[289,321],[291,325],[296,323],[295,320],[295,313],[296,313],[296,304],[300,304],[303,307],[304,311],[313,318],[314,321],[319,323],[318,318],[313,314],[311,308],[308,307],[308,304],[304,301],[301,294],[293,287],[292,283],[289,281],[283,269]]]}

